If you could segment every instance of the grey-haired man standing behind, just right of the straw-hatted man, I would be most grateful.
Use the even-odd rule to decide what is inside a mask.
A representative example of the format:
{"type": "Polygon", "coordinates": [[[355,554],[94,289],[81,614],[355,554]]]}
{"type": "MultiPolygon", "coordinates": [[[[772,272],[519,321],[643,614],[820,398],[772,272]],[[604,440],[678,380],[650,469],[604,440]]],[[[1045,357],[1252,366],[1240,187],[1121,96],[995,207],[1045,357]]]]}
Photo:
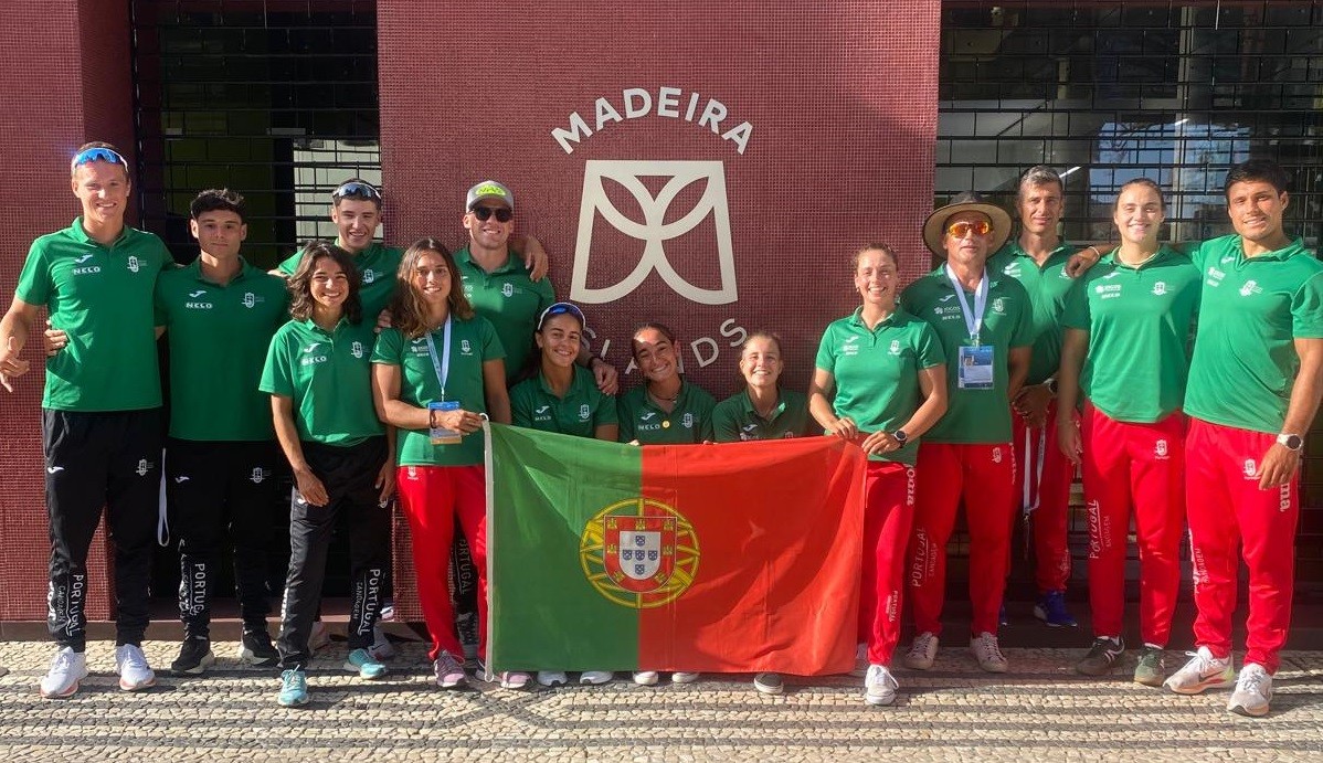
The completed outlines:
{"type": "Polygon", "coordinates": [[[1011,276],[1024,286],[1033,303],[1033,352],[1029,377],[1012,402],[1012,447],[1020,484],[1016,501],[1032,521],[1036,618],[1049,627],[1076,625],[1066,610],[1070,579],[1070,549],[1066,546],[1066,512],[1074,465],[1057,447],[1057,362],[1061,358],[1061,315],[1074,280],[1066,262],[1074,247],[1057,234],[1064,208],[1061,176],[1049,167],[1032,167],[1021,177],[1015,197],[1020,235],[1005,242],[988,259],[988,270],[1011,276]]]}

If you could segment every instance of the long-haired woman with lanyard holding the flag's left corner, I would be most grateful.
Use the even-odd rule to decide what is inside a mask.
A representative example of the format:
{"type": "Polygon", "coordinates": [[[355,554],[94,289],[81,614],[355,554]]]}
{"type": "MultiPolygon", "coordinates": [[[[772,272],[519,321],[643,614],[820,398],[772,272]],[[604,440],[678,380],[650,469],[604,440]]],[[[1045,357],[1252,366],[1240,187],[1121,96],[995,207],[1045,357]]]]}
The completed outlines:
{"type": "MultiPolygon", "coordinates": [[[[459,267],[441,242],[413,243],[396,275],[393,328],[372,353],[372,394],[381,421],[397,427],[400,505],[409,518],[413,562],[433,673],[448,689],[467,682],[450,602],[450,549],[460,526],[478,574],[479,653],[487,640],[487,487],[482,421],[509,423],[505,350],[474,311],[459,267]]],[[[483,678],[487,670],[479,666],[483,678]]],[[[528,673],[499,676],[519,689],[528,673]]]]}

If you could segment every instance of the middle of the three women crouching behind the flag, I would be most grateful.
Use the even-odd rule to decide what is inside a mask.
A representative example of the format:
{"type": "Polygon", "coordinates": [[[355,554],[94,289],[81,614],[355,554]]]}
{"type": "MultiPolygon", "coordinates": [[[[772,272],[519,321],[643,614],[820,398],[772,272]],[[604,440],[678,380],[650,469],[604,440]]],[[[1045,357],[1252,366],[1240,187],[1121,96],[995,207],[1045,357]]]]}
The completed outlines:
{"type": "MultiPolygon", "coordinates": [[[[712,409],[717,401],[706,390],[684,380],[675,332],[659,323],[646,323],[634,332],[634,362],[643,383],[620,397],[620,442],[635,446],[676,446],[712,442],[712,409]]],[[[651,686],[656,670],[635,670],[634,682],[651,686]]],[[[697,673],[676,670],[673,684],[691,684],[697,673]]]]}

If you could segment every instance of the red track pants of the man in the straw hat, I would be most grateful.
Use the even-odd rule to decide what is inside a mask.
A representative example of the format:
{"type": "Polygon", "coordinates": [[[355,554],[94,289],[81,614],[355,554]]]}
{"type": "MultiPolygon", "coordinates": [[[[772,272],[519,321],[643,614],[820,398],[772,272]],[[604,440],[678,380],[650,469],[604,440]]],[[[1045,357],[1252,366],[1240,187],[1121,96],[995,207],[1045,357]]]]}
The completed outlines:
{"type": "Polygon", "coordinates": [[[910,602],[918,632],[942,632],[946,542],[963,499],[970,529],[971,627],[974,635],[996,633],[1011,563],[1013,493],[1015,454],[1009,443],[919,446],[909,543],[910,602]]]}

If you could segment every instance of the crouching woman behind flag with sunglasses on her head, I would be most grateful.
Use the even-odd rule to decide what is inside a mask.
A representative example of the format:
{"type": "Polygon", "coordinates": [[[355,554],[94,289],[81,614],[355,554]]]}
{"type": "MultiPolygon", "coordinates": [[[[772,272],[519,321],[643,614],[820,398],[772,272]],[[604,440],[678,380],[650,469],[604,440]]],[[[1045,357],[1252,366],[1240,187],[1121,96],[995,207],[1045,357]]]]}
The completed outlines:
{"type": "MultiPolygon", "coordinates": [[[[515,426],[615,442],[615,398],[603,394],[593,374],[574,364],[585,328],[583,312],[568,301],[542,311],[533,335],[537,370],[509,390],[515,426]]],[[[606,684],[613,677],[611,670],[583,670],[579,684],[606,684]]],[[[538,670],[537,682],[557,686],[569,678],[564,670],[538,670]]]]}

